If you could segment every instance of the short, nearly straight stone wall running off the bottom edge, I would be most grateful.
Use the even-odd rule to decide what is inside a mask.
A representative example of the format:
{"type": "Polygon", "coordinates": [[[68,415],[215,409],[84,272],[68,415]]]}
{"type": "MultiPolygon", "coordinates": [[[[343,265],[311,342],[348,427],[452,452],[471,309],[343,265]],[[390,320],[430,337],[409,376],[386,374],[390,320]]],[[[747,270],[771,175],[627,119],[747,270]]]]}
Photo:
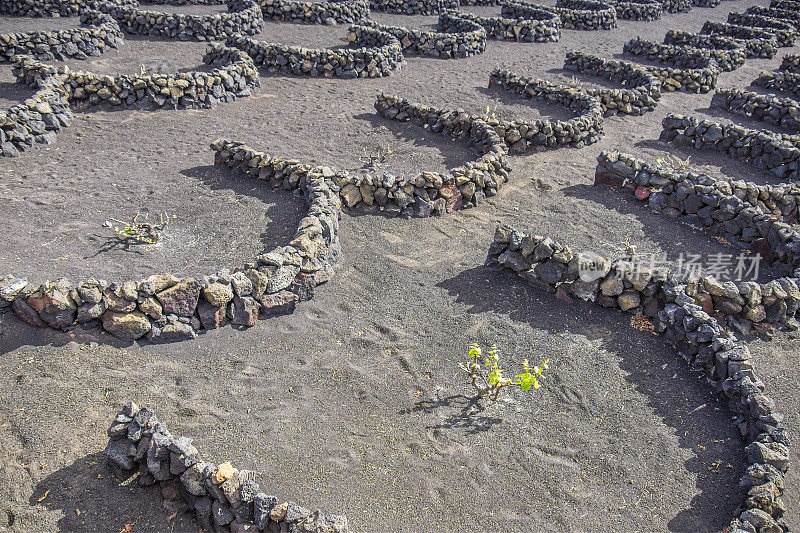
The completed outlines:
{"type": "Polygon", "coordinates": [[[166,500],[194,512],[202,531],[293,531],[347,533],[347,517],[311,512],[261,491],[252,472],[230,463],[206,462],[188,437],[173,437],[155,413],[135,403],[122,406],[108,428],[103,454],[124,474],[139,474],[139,485],[158,484],[166,500]]]}

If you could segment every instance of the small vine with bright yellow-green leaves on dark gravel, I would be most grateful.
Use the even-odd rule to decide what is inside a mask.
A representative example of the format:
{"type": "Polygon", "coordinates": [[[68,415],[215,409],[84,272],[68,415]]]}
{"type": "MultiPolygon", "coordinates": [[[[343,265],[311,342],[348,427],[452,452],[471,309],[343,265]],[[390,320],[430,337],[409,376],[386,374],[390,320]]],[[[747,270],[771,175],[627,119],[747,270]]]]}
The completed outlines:
{"type": "Polygon", "coordinates": [[[547,370],[549,359],[542,362],[540,366],[531,368],[528,360],[522,361],[523,372],[509,379],[503,376],[503,369],[500,367],[500,351],[497,346],[492,345],[484,357],[483,350],[477,344],[471,344],[467,352],[469,360],[467,363],[459,363],[459,367],[470,379],[470,384],[477,391],[478,397],[489,398],[497,401],[500,391],[506,387],[519,387],[524,391],[538,389],[541,387],[539,378],[547,370]],[[483,360],[481,360],[483,358],[483,360]]]}

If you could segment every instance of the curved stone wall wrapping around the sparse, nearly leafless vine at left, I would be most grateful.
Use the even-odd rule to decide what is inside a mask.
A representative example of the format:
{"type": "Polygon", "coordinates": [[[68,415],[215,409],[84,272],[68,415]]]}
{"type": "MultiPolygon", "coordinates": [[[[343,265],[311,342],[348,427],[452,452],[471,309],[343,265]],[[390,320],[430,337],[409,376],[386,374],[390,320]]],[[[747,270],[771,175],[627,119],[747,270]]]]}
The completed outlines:
{"type": "Polygon", "coordinates": [[[66,330],[94,323],[111,335],[151,342],[194,338],[230,321],[255,325],[259,315],[291,313],[330,279],[339,258],[338,196],[320,167],[271,158],[241,143],[216,141],[214,164],[287,190],[299,189],[308,214],[286,246],[259,255],[231,273],[222,269],[202,279],[158,274],[141,281],[109,283],[90,279],[77,285],[60,279],[33,285],[25,278],[0,278],[0,311],[8,307],[31,326],[66,330]]]}

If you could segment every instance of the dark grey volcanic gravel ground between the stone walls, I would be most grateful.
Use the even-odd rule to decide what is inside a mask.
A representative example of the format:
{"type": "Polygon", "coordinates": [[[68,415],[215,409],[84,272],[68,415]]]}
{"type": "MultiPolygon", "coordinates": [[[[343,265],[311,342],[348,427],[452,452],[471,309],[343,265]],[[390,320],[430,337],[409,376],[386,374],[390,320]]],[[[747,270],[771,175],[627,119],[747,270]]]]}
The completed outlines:
{"type": "MultiPolygon", "coordinates": [[[[376,93],[473,112],[496,105],[503,118],[564,113],[487,90],[489,72],[507,66],[566,82],[568,49],[613,57],[633,36],[660,41],[669,28],[696,31],[752,3],[620,21],[607,32],[565,30],[558,43],[490,41],[485,54],[466,60],[412,57],[380,80],[263,76],[253,96],[213,110],[78,113],[52,146],[2,161],[0,272],[37,281],[127,279],[237,266],[285,238],[302,202],[214,170],[212,139],[349,169],[361,165],[364,149],[391,146],[388,169],[445,170],[474,154],[461,141],[376,117],[376,93]],[[166,246],[103,248],[106,219],[145,209],[177,215],[166,246]]],[[[0,31],[22,20],[0,18],[0,31]]],[[[337,46],[345,33],[343,26],[267,23],[259,38],[337,46]]],[[[197,68],[203,48],[136,38],[119,52],[68,63],[114,73],[135,72],[140,62],[168,72],[197,68]]],[[[780,52],[788,51],[796,49],[780,52]]],[[[780,56],[748,60],[724,73],[720,86],[746,86],[779,63],[780,56]]],[[[6,83],[12,80],[0,66],[2,105],[25,98],[6,83]]],[[[333,280],[294,315],[247,331],[123,346],[96,331],[41,331],[0,316],[0,530],[195,530],[190,518],[162,508],[157,491],[120,486],[106,472],[98,452],[126,400],[155,408],[210,460],[260,472],[267,490],[346,512],[357,531],[721,530],[739,502],[743,452],[705,382],[661,339],[630,328],[627,316],[567,304],[482,266],[499,221],[574,249],[608,251],[629,239],[670,257],[730,253],[627,193],[591,185],[603,149],[653,160],[691,156],[717,175],[768,182],[720,154],[657,140],[669,112],[719,118],[710,99],[666,94],[653,113],[607,119],[595,145],[515,155],[511,181],[473,210],[417,220],[344,215],[344,258],[333,280]],[[496,342],[514,360],[550,358],[545,386],[467,416],[469,390],[457,362],[473,341],[496,342]]],[[[751,344],[796,439],[792,370],[800,341],[784,335],[751,344]]],[[[800,527],[794,471],[787,489],[789,522],[800,527]]]]}

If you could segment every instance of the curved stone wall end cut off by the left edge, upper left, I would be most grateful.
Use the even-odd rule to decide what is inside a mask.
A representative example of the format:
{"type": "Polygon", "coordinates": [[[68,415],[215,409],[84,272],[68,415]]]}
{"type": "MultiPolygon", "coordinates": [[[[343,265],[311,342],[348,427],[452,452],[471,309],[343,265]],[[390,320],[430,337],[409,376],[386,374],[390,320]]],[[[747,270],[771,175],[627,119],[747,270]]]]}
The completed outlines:
{"type": "MultiPolygon", "coordinates": [[[[31,59],[20,56],[16,61],[20,65],[31,59]]],[[[36,92],[24,103],[0,111],[0,156],[18,156],[34,143],[50,144],[72,121],[67,91],[54,68],[21,77],[36,92]]]]}

